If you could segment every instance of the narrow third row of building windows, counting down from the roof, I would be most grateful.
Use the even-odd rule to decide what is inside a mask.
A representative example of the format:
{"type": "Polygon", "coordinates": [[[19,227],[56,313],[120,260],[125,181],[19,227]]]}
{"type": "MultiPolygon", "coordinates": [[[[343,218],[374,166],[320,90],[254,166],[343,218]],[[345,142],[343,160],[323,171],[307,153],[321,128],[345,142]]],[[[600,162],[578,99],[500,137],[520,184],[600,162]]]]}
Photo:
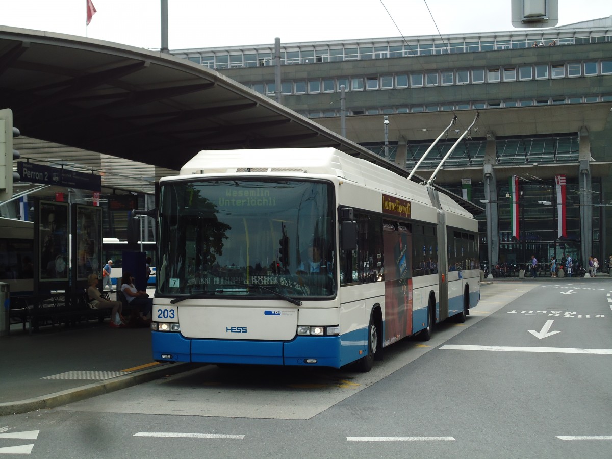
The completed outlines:
{"type": "MultiPolygon", "coordinates": [[[[537,97],[535,99],[520,99],[520,100],[494,100],[490,102],[448,102],[448,103],[430,103],[401,105],[394,107],[373,107],[373,108],[352,108],[347,110],[350,115],[376,115],[376,114],[393,114],[393,113],[422,113],[425,111],[453,111],[453,110],[482,110],[483,108],[502,108],[516,106],[534,106],[534,105],[561,105],[563,103],[591,103],[591,102],[612,102],[612,94],[605,95],[588,95],[584,97],[537,97]]],[[[309,110],[299,111],[307,118],[331,118],[341,116],[340,110],[309,110]]]]}

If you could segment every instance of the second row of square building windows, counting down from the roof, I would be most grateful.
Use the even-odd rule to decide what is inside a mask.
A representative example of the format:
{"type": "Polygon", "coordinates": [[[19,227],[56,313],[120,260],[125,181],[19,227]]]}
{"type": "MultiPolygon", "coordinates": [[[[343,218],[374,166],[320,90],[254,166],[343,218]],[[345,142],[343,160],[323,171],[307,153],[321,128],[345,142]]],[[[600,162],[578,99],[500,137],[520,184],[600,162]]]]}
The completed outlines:
{"type": "MultiPolygon", "coordinates": [[[[346,91],[376,91],[379,89],[423,88],[424,86],[451,86],[453,84],[499,83],[501,81],[548,80],[580,76],[612,75],[612,60],[565,62],[561,64],[504,65],[476,69],[436,70],[373,76],[344,76],[285,81],[281,94],[321,94],[346,91]]],[[[273,95],[276,84],[271,81],[250,83],[261,94],[273,95]]]]}

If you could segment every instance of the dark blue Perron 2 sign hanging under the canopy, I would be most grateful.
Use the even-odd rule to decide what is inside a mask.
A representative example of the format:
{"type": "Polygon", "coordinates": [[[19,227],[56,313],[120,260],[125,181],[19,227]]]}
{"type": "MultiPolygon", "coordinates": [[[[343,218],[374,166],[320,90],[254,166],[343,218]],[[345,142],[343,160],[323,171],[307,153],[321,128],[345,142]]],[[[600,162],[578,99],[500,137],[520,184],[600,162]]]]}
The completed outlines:
{"type": "Polygon", "coordinates": [[[58,185],[59,187],[97,192],[102,189],[102,178],[94,174],[84,174],[82,172],[24,161],[17,163],[17,171],[24,182],[58,185]]]}

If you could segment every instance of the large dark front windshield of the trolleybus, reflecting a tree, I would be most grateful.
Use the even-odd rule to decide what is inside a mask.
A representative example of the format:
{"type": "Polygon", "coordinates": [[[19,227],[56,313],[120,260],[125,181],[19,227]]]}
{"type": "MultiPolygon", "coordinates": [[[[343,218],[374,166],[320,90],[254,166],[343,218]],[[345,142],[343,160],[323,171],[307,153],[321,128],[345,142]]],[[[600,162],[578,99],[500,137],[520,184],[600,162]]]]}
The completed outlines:
{"type": "Polygon", "coordinates": [[[332,196],[332,185],[318,181],[163,184],[157,294],[333,296],[332,196]]]}

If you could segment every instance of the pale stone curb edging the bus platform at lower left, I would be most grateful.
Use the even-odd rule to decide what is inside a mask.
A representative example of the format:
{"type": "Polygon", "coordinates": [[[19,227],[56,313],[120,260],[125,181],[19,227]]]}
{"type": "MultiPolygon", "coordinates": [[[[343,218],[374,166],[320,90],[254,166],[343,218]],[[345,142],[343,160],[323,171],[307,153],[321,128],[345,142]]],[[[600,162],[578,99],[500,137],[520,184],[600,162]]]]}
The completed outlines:
{"type": "Polygon", "coordinates": [[[198,364],[192,364],[190,362],[167,364],[160,368],[149,368],[148,370],[138,371],[137,373],[117,376],[116,378],[100,381],[99,383],[86,384],[84,386],[74,387],[73,389],[54,392],[53,394],[26,398],[26,400],[0,403],[0,416],[21,414],[37,409],[57,408],[58,406],[68,405],[75,401],[108,394],[109,392],[125,389],[126,387],[136,386],[136,384],[147,383],[154,379],[161,378],[162,376],[176,375],[176,373],[192,370],[197,366],[198,364]]]}

